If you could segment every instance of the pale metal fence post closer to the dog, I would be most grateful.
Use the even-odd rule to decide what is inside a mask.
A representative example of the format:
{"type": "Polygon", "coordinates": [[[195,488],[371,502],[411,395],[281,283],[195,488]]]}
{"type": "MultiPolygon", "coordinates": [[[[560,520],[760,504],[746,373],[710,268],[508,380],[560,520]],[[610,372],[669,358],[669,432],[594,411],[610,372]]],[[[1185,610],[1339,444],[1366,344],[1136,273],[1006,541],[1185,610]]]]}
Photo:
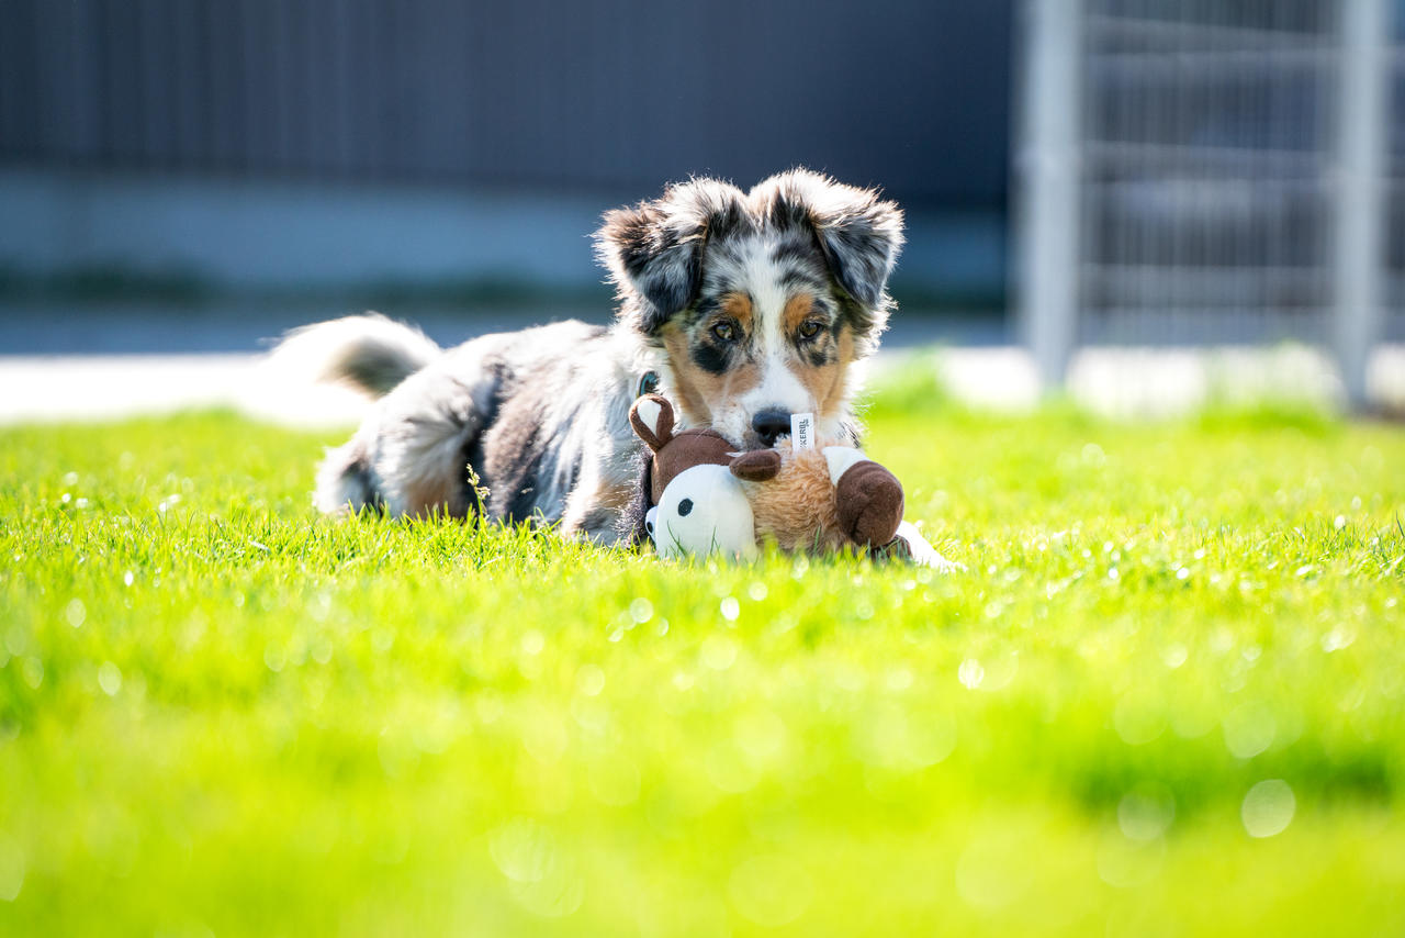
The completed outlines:
{"type": "Polygon", "coordinates": [[[1045,388],[1078,339],[1082,0],[1026,0],[1020,193],[1020,325],[1045,388]]]}

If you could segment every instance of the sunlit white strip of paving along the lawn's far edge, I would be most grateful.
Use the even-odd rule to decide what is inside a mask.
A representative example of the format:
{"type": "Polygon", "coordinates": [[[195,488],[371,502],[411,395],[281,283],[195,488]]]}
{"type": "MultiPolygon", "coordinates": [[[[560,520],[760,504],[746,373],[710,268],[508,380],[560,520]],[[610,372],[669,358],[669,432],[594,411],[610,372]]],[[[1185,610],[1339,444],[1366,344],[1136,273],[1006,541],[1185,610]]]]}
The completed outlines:
{"type": "MultiPolygon", "coordinates": [[[[881,353],[881,378],[901,357],[937,370],[951,392],[996,409],[1038,399],[1028,354],[1014,346],[881,353]]],[[[1377,353],[1373,384],[1405,412],[1405,346],[1377,353]]],[[[1175,413],[1210,397],[1336,401],[1340,384],[1319,353],[1305,347],[1137,350],[1093,349],[1075,361],[1069,391],[1092,409],[1117,416],[1175,413]]],[[[0,356],[0,423],[100,420],[192,408],[228,406],[295,426],[355,422],[365,402],[334,387],[278,374],[260,353],[0,356]]]]}

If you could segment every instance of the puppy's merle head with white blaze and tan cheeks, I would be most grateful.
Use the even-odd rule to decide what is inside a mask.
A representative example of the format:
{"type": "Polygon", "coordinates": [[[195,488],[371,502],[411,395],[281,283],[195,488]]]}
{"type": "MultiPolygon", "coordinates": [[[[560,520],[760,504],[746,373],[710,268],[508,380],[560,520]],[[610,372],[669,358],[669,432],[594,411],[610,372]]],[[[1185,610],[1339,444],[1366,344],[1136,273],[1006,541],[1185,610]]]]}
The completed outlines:
{"type": "Polygon", "coordinates": [[[621,318],[666,352],[686,425],[757,449],[791,413],[837,433],[849,366],[888,318],[902,211],[806,170],[750,193],[694,179],[608,212],[597,246],[621,318]]]}

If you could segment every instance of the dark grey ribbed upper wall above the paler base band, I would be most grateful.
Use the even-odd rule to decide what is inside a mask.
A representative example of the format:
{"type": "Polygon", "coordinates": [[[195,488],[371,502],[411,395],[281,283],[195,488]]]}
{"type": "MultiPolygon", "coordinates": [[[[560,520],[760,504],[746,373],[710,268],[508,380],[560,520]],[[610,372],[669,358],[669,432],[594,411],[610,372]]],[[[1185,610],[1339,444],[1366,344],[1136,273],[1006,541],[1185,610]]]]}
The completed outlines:
{"type": "Polygon", "coordinates": [[[0,0],[0,160],[1002,205],[1007,0],[0,0]]]}

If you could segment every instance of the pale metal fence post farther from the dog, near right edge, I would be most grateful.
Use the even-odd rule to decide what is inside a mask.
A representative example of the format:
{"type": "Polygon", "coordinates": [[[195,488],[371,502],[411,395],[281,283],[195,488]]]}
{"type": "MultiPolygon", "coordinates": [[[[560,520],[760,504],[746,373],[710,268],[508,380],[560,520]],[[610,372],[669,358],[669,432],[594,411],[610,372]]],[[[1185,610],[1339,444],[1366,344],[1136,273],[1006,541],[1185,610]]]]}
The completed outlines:
{"type": "Polygon", "coordinates": [[[1367,404],[1366,367],[1381,329],[1390,25],[1385,0],[1343,0],[1332,338],[1353,408],[1367,404]]]}

